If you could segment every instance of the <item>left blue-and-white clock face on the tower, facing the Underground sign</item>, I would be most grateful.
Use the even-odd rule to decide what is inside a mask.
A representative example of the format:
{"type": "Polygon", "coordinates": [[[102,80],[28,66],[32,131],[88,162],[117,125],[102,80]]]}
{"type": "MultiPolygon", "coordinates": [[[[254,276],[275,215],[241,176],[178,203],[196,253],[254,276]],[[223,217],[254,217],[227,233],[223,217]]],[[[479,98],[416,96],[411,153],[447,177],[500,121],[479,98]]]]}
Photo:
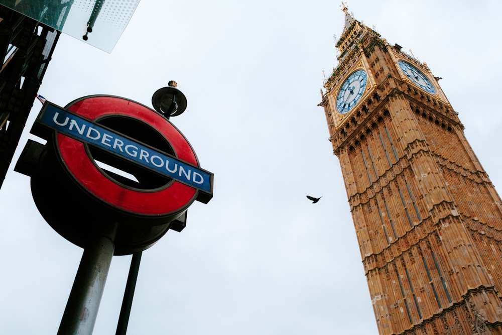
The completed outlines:
{"type": "Polygon", "coordinates": [[[340,87],[336,97],[336,109],[342,114],[352,109],[364,93],[367,82],[368,75],[363,70],[352,73],[340,87]]]}

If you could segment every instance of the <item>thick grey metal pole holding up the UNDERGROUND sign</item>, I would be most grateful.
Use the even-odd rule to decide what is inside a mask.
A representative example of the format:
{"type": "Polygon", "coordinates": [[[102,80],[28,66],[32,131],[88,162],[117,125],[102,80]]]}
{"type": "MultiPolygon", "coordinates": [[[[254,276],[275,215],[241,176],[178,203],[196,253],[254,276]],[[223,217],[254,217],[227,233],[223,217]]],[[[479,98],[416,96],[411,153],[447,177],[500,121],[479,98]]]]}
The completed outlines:
{"type": "Polygon", "coordinates": [[[116,224],[97,236],[82,254],[58,335],[91,335],[113,257],[116,224]]]}

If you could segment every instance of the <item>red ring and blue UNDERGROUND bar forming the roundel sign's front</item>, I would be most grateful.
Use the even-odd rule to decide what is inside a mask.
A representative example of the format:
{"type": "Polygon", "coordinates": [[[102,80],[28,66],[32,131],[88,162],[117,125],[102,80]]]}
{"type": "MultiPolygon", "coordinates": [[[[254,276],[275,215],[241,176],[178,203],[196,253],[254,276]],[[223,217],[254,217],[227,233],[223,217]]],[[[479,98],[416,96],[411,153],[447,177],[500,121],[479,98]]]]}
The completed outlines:
{"type": "Polygon", "coordinates": [[[61,160],[75,180],[98,199],[119,210],[158,215],[178,211],[196,198],[207,202],[212,196],[212,174],[199,167],[195,152],[183,134],[142,104],[113,96],[82,98],[66,108],[46,103],[37,124],[56,132],[61,160]],[[109,121],[105,122],[107,118],[109,121]],[[134,127],[141,129],[135,131],[134,127]],[[153,134],[140,134],[148,128],[153,134]],[[124,134],[128,129],[130,135],[124,134]],[[167,150],[156,149],[157,143],[149,145],[133,138],[135,135],[144,137],[144,141],[164,140],[163,147],[167,150]],[[95,155],[90,154],[91,148],[95,149],[95,155]],[[136,170],[149,170],[169,182],[154,184],[153,189],[143,188],[141,181],[137,185],[134,181],[117,182],[92,156],[109,156],[118,169],[135,166],[136,170]]]}

